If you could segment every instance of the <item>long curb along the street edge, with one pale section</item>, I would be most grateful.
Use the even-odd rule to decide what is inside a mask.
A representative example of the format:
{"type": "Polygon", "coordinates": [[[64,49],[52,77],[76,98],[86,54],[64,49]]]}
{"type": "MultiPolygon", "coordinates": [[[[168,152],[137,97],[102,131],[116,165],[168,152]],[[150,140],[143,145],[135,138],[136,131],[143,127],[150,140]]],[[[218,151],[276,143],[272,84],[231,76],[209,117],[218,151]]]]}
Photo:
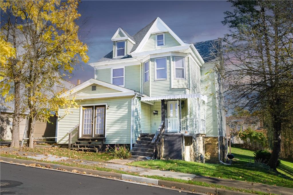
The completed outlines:
{"type": "MultiPolygon", "coordinates": [[[[141,183],[147,183],[147,184],[154,184],[159,187],[169,187],[169,188],[177,188],[181,190],[187,190],[187,191],[193,191],[193,192],[202,192],[202,193],[210,193],[210,194],[225,194],[225,195],[245,195],[250,193],[240,192],[240,191],[232,191],[232,190],[226,190],[226,189],[219,189],[219,188],[213,188],[213,187],[204,187],[204,186],[197,186],[192,184],[186,184],[186,183],[179,183],[179,182],[173,182],[173,181],[166,181],[166,180],[160,180],[160,179],[152,179],[147,177],[139,177],[134,175],[127,175],[127,174],[120,174],[120,173],[114,173],[114,172],[106,172],[106,171],[98,171],[98,170],[91,170],[91,169],[85,169],[85,168],[79,168],[79,167],[70,167],[66,165],[58,165],[58,164],[52,164],[52,163],[44,163],[34,160],[23,160],[23,159],[17,159],[17,158],[7,158],[7,157],[1,157],[0,162],[3,163],[19,163],[19,164],[39,164],[43,167],[46,167],[48,169],[57,169],[57,170],[67,170],[71,172],[72,170],[76,170],[79,172],[86,172],[86,174],[83,175],[89,175],[89,173],[92,173],[92,175],[100,176],[100,177],[110,177],[112,179],[125,179],[125,180],[131,180],[134,182],[141,182],[141,183]]],[[[32,166],[31,167],[35,167],[32,166]]],[[[64,171],[63,170],[63,171],[64,171]]],[[[90,176],[90,175],[89,175],[90,176]]]]}

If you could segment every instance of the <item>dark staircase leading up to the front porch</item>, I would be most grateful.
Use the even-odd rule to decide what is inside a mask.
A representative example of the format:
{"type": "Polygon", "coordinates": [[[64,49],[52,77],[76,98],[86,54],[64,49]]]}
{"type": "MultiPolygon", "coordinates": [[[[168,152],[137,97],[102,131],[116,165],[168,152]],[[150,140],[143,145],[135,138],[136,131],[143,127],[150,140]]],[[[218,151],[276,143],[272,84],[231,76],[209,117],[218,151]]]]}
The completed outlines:
{"type": "Polygon", "coordinates": [[[132,158],[150,160],[153,158],[154,143],[151,143],[155,134],[140,134],[140,137],[132,147],[132,158]]]}

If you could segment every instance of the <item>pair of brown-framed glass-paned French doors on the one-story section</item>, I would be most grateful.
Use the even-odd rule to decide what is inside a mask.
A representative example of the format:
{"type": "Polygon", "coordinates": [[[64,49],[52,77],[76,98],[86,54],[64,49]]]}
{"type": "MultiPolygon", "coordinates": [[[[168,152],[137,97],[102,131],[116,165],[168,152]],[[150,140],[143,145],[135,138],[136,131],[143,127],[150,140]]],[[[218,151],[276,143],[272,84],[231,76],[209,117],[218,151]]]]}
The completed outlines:
{"type": "Polygon", "coordinates": [[[105,105],[83,107],[81,137],[105,137],[105,105]]]}

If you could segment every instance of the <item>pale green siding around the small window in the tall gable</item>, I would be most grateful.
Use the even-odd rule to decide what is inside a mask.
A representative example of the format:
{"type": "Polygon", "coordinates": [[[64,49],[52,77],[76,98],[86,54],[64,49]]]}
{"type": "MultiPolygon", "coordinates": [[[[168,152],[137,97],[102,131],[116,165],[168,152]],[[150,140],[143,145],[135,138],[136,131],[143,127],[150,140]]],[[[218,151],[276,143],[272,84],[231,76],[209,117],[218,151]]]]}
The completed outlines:
{"type": "Polygon", "coordinates": [[[142,51],[175,47],[175,46],[180,46],[180,43],[178,43],[178,41],[176,41],[176,39],[174,39],[174,37],[170,35],[170,33],[166,32],[165,45],[156,47],[156,34],[153,34],[149,37],[149,40],[147,40],[144,47],[142,47],[142,51]]]}

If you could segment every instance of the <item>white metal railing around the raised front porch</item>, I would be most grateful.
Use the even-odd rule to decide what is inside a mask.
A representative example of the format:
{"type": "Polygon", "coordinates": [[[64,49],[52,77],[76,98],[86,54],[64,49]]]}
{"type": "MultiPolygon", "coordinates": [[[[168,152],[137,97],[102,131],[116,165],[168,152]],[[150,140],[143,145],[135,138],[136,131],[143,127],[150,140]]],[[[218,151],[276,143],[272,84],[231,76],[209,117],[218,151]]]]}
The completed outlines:
{"type": "Polygon", "coordinates": [[[165,119],[165,126],[166,133],[205,134],[204,119],[165,119]]]}

